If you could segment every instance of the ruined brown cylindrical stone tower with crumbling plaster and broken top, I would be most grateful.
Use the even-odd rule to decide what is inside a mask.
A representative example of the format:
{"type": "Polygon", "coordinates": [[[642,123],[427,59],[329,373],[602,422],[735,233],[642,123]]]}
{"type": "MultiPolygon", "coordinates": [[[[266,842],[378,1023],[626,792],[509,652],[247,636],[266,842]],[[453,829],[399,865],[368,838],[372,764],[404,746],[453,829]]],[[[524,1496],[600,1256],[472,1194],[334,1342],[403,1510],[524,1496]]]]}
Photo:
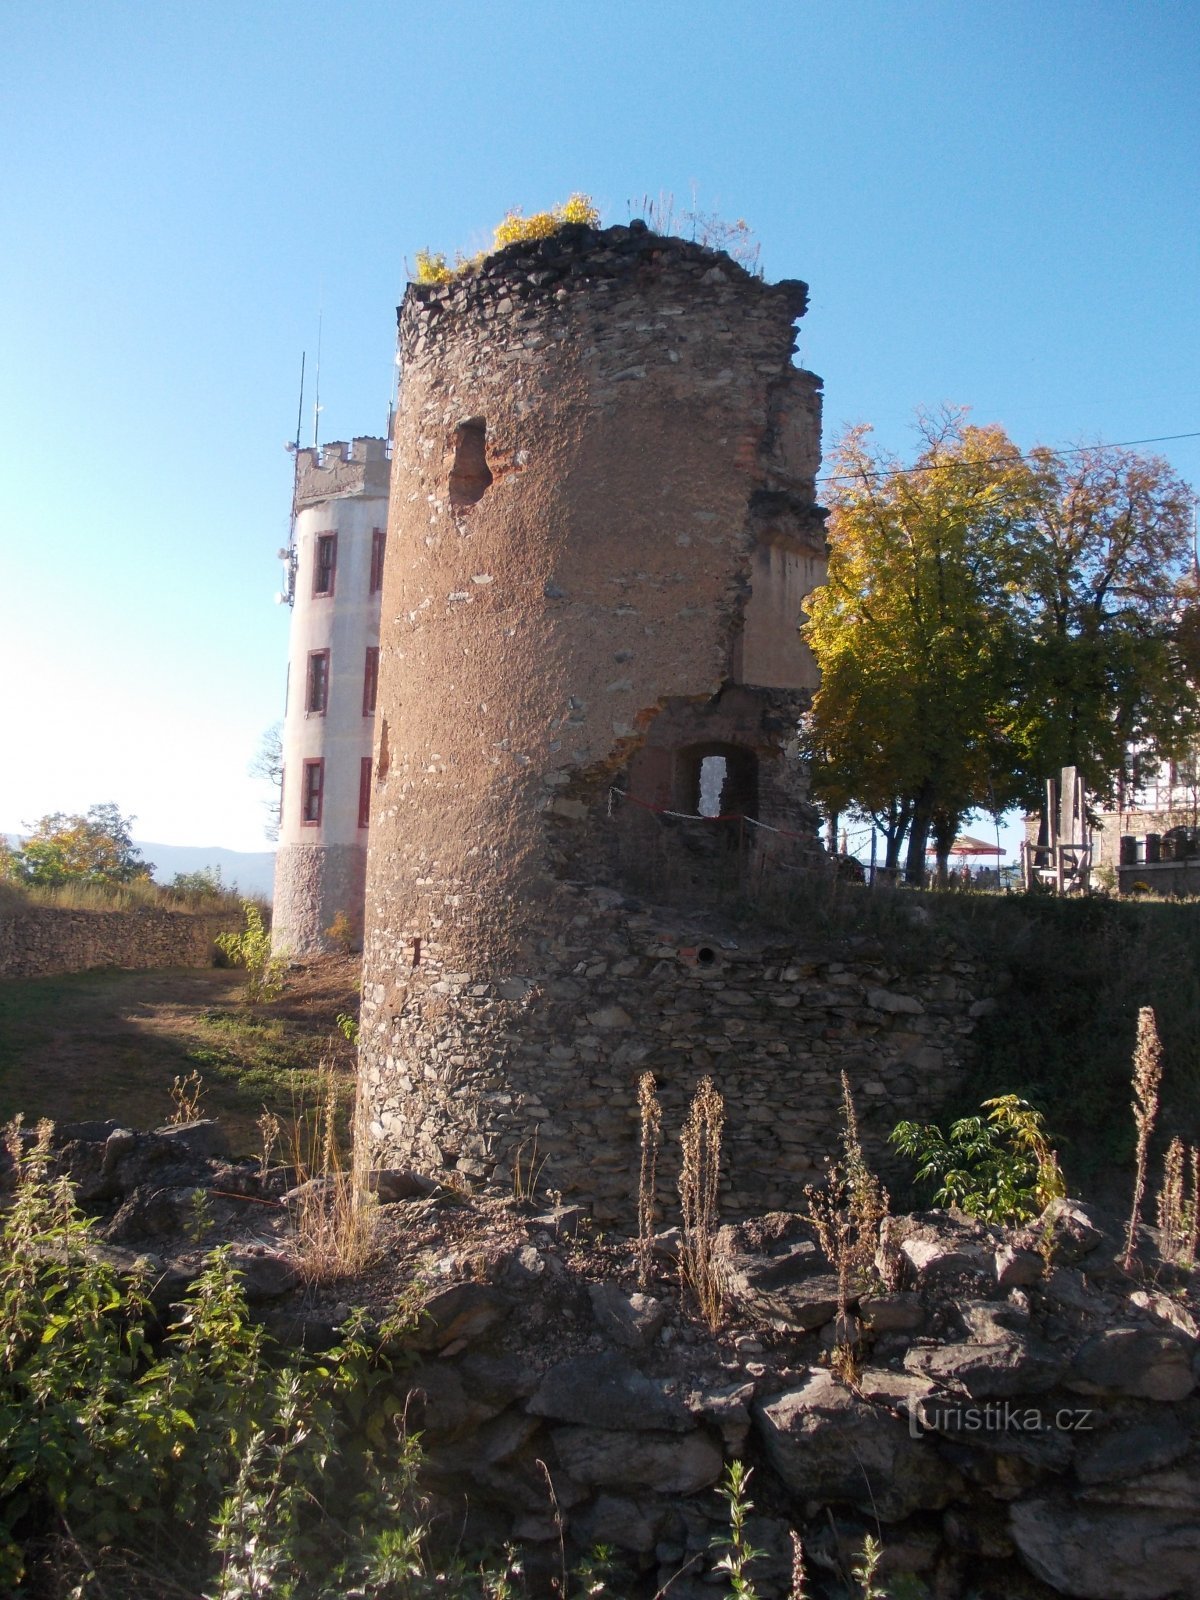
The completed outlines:
{"type": "MultiPolygon", "coordinates": [[[[819,853],[795,738],[826,563],[805,302],[643,224],[410,285],[360,1035],[376,1160],[534,1165],[605,1214],[637,1074],[670,1064],[646,906],[754,872],[768,834],[819,853]]],[[[680,941],[672,960],[718,960],[680,941]]]]}

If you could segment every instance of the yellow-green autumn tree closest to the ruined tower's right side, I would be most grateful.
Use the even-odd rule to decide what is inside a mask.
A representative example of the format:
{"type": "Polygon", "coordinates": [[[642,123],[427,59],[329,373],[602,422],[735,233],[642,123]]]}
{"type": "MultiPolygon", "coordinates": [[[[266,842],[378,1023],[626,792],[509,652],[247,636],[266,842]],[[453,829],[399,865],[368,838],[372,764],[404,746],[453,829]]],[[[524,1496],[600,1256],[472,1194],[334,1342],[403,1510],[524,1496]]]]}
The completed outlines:
{"type": "Polygon", "coordinates": [[[1003,715],[1014,672],[1010,595],[1030,474],[1003,429],[963,411],[920,418],[914,467],[851,429],[834,456],[829,579],[808,603],[821,666],[808,726],[818,795],[907,834],[920,882],[962,819],[1011,798],[1003,715]]]}

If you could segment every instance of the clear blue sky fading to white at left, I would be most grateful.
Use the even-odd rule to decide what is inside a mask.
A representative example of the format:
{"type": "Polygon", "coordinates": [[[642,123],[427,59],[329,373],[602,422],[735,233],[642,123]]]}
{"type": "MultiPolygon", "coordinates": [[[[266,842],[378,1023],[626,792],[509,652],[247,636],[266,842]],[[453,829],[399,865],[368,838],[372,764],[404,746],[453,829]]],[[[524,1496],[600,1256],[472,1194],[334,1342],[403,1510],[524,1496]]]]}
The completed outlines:
{"type": "MultiPolygon", "coordinates": [[[[698,187],[802,277],[826,438],[1200,430],[1200,8],[1173,0],[10,5],[0,830],[115,800],[264,848],[301,350],[381,432],[405,258],[698,187]]],[[[309,435],[310,418],[306,422],[309,435]]],[[[1194,485],[1200,438],[1157,446],[1194,485]]]]}

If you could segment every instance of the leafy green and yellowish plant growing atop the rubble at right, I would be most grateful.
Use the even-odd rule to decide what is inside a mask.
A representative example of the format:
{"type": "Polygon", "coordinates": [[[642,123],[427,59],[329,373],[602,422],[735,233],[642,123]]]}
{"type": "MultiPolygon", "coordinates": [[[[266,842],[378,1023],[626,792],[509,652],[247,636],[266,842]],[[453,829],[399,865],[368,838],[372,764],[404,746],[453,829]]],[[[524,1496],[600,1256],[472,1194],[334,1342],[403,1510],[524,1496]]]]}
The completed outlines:
{"type": "Polygon", "coordinates": [[[936,1205],[984,1222],[1027,1222],[1067,1192],[1042,1112],[1016,1094],[984,1101],[981,1115],[960,1117],[949,1133],[899,1122],[890,1141],[917,1162],[918,1184],[936,1184],[936,1205]]]}

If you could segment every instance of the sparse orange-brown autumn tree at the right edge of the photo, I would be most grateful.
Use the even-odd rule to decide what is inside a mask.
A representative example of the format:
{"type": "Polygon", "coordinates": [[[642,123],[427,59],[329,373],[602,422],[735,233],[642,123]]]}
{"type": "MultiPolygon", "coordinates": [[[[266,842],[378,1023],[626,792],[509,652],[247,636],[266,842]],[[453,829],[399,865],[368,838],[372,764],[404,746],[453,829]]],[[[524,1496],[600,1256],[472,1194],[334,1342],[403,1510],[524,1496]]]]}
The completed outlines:
{"type": "Polygon", "coordinates": [[[1014,595],[1022,634],[1013,734],[1021,798],[1061,766],[1110,800],[1134,752],[1178,755],[1200,731],[1195,496],[1157,456],[1030,451],[1014,595]]]}

